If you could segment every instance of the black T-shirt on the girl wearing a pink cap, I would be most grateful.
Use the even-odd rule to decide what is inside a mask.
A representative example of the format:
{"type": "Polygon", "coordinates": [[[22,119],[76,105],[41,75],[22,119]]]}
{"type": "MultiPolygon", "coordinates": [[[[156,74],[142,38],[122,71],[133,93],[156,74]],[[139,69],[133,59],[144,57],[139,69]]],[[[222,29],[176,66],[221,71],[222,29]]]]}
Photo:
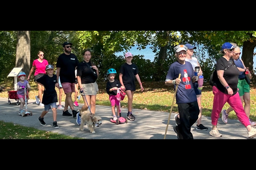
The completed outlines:
{"type": "Polygon", "coordinates": [[[130,84],[132,87],[135,87],[135,79],[134,76],[139,73],[138,67],[135,64],[127,64],[124,63],[120,68],[120,73],[123,74],[122,80],[123,84],[130,84]]]}

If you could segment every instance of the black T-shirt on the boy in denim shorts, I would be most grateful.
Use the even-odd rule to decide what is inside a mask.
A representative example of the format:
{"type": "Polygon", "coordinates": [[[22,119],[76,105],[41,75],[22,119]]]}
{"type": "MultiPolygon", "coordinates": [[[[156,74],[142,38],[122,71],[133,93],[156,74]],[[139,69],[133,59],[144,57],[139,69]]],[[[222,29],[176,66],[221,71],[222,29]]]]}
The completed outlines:
{"type": "Polygon", "coordinates": [[[55,83],[57,83],[57,76],[53,74],[53,77],[49,77],[48,74],[36,80],[38,83],[45,86],[45,91],[43,92],[42,103],[47,105],[54,102],[58,102],[57,92],[55,90],[55,83]]]}

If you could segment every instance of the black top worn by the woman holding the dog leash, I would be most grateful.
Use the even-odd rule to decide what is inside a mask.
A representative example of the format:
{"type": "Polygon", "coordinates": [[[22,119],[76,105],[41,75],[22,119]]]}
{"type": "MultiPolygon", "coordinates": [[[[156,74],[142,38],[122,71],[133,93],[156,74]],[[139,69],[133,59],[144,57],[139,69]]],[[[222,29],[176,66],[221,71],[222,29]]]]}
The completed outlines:
{"type": "Polygon", "coordinates": [[[77,76],[81,77],[82,84],[94,83],[96,81],[93,76],[93,71],[96,72],[96,70],[92,67],[90,68],[88,65],[91,67],[90,62],[86,64],[86,61],[82,61],[77,66],[77,76]]]}

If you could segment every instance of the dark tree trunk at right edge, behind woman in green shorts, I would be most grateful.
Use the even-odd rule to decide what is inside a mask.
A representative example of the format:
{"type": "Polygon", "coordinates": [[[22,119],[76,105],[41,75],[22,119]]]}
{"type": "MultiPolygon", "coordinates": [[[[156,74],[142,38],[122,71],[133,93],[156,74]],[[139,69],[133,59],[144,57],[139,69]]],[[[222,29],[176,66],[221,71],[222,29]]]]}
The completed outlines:
{"type": "Polygon", "coordinates": [[[241,57],[243,60],[243,63],[245,64],[245,67],[249,67],[253,80],[255,79],[254,68],[253,68],[253,51],[255,47],[256,47],[256,41],[253,41],[252,43],[250,41],[244,41],[242,57],[241,57]]]}

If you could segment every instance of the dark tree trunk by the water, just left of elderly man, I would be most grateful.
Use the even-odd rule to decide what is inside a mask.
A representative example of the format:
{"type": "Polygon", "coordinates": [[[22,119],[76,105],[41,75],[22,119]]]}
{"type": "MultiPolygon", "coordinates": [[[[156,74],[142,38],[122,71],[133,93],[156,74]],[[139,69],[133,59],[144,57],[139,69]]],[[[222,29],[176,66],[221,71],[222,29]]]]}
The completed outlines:
{"type": "MultiPolygon", "coordinates": [[[[170,37],[170,32],[169,31],[164,31],[163,39],[169,40],[169,37],[170,37]]],[[[161,81],[161,76],[164,73],[162,65],[163,65],[163,63],[165,62],[165,59],[166,59],[167,48],[168,48],[168,45],[160,47],[158,60],[157,60],[157,63],[155,65],[155,70],[157,70],[157,71],[153,75],[153,78],[155,79],[156,82],[161,81]]]]}

